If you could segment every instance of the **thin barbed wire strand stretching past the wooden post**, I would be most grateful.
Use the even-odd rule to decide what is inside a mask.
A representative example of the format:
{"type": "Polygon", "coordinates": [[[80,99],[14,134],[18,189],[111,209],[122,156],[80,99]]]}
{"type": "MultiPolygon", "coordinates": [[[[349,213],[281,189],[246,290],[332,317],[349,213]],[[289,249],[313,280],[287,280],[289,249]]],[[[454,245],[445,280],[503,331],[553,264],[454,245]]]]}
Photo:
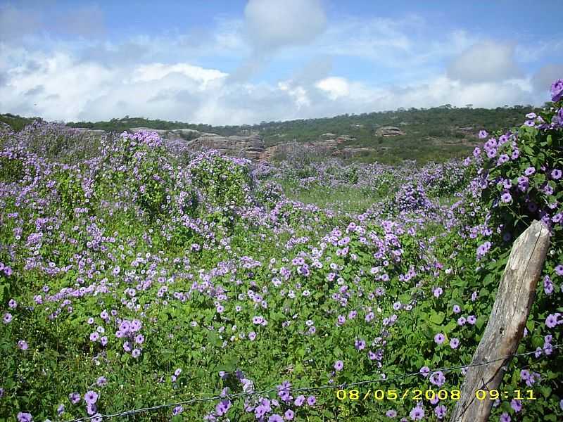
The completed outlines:
{"type": "MultiPolygon", "coordinates": [[[[559,349],[559,347],[562,347],[563,345],[553,345],[552,349],[559,349]]],[[[536,354],[537,350],[534,350],[533,352],[524,352],[524,353],[514,353],[514,354],[509,354],[507,356],[504,357],[498,357],[495,359],[492,359],[490,361],[487,362],[479,362],[479,363],[472,363],[472,364],[467,364],[467,365],[462,365],[462,366],[449,366],[449,367],[445,367],[445,368],[439,368],[439,369],[434,369],[434,371],[430,371],[429,372],[429,376],[431,376],[432,373],[437,373],[437,372],[442,372],[442,373],[448,373],[451,371],[458,371],[461,369],[468,369],[468,368],[472,368],[474,366],[486,366],[489,364],[492,364],[493,362],[499,362],[499,361],[507,361],[508,359],[512,359],[513,357],[520,357],[520,356],[529,356],[530,354],[536,354]]],[[[542,354],[542,357],[544,357],[545,355],[542,354]]],[[[539,360],[540,358],[538,358],[539,360]]],[[[270,392],[279,392],[279,391],[284,391],[284,390],[291,390],[291,392],[315,392],[315,391],[323,391],[323,390],[342,390],[344,388],[348,388],[348,387],[355,387],[355,386],[360,386],[360,385],[369,385],[369,384],[375,384],[375,383],[390,383],[392,381],[398,381],[398,380],[402,380],[404,378],[409,378],[411,376],[417,376],[417,375],[421,375],[421,373],[419,371],[417,372],[411,372],[411,373],[404,373],[398,376],[393,376],[391,378],[379,378],[376,380],[365,380],[365,381],[357,381],[355,383],[343,383],[343,384],[338,384],[338,385],[334,385],[334,384],[328,384],[328,385],[320,385],[317,387],[300,387],[300,388],[268,388],[265,390],[259,390],[259,391],[250,391],[250,392],[237,392],[234,394],[224,394],[224,395],[210,395],[208,397],[201,397],[201,398],[196,398],[196,399],[189,399],[189,400],[184,400],[182,402],[175,402],[175,403],[167,403],[167,404],[158,404],[156,406],[152,406],[152,407],[143,407],[143,408],[139,408],[139,409],[129,409],[127,411],[120,411],[118,413],[115,414],[106,414],[106,415],[94,415],[94,416],[85,416],[84,418],[76,418],[76,419],[72,419],[69,422],[83,422],[83,421],[91,421],[91,420],[96,420],[96,421],[101,421],[101,420],[105,420],[105,419],[110,419],[110,418],[118,418],[120,416],[133,416],[136,414],[141,414],[141,413],[145,413],[148,411],[156,411],[156,410],[162,410],[162,409],[170,409],[171,407],[178,407],[178,406],[185,406],[186,404],[196,404],[196,403],[202,403],[202,402],[214,402],[215,400],[222,400],[222,399],[229,399],[229,400],[234,400],[234,399],[238,399],[241,397],[253,397],[253,396],[265,396],[267,394],[270,394],[270,392]]]]}

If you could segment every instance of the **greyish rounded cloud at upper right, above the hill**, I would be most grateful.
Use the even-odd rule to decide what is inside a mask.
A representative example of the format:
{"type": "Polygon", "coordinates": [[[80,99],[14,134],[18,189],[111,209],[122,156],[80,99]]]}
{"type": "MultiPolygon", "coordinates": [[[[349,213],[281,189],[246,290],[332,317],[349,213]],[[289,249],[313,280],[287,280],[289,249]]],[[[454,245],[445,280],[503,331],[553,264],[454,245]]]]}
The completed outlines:
{"type": "Polygon", "coordinates": [[[462,82],[499,82],[521,76],[514,46],[493,41],[469,47],[448,67],[448,77],[462,82]]]}

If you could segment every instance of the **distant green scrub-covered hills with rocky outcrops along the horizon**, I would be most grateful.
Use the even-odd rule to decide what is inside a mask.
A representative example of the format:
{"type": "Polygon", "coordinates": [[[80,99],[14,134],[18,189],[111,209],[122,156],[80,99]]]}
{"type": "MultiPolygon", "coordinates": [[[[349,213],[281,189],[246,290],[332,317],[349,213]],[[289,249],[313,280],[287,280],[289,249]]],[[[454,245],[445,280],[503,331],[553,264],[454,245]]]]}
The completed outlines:
{"type": "MultiPolygon", "coordinates": [[[[260,122],[240,126],[212,126],[151,120],[144,117],[125,116],[101,122],[68,122],[69,127],[103,129],[106,132],[123,132],[134,127],[151,129],[194,129],[202,133],[222,136],[259,134],[265,146],[280,143],[324,142],[337,145],[346,151],[355,151],[354,160],[396,162],[415,159],[448,160],[462,158],[479,143],[476,134],[480,129],[489,132],[506,129],[524,122],[526,113],[533,106],[513,106],[504,108],[455,108],[446,104],[435,108],[399,108],[394,111],[362,113],[360,115],[339,115],[318,119],[290,120],[285,122],[260,122]]],[[[38,118],[38,117],[37,117],[38,118]]],[[[0,115],[0,121],[19,130],[32,118],[15,115],[0,115]]],[[[184,136],[192,139],[197,136],[184,136]]],[[[343,154],[346,155],[346,154],[343,154]]]]}

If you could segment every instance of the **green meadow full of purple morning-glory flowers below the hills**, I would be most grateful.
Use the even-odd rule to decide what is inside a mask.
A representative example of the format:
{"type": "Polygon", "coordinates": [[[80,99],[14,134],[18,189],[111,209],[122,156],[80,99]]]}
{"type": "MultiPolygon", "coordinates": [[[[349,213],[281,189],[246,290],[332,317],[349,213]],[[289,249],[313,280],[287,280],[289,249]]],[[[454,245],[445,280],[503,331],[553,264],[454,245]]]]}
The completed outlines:
{"type": "Polygon", "coordinates": [[[550,250],[491,420],[562,420],[562,95],[425,165],[3,129],[0,420],[448,420],[534,219],[550,250]]]}

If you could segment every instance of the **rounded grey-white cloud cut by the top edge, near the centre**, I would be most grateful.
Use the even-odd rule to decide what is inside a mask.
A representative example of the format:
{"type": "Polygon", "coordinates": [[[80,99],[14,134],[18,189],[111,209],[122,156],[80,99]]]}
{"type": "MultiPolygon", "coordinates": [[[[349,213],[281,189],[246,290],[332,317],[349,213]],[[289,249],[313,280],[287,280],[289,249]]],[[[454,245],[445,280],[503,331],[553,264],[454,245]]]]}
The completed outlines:
{"type": "Polygon", "coordinates": [[[250,0],[244,15],[250,42],[262,52],[307,44],[327,26],[319,0],[250,0]]]}

